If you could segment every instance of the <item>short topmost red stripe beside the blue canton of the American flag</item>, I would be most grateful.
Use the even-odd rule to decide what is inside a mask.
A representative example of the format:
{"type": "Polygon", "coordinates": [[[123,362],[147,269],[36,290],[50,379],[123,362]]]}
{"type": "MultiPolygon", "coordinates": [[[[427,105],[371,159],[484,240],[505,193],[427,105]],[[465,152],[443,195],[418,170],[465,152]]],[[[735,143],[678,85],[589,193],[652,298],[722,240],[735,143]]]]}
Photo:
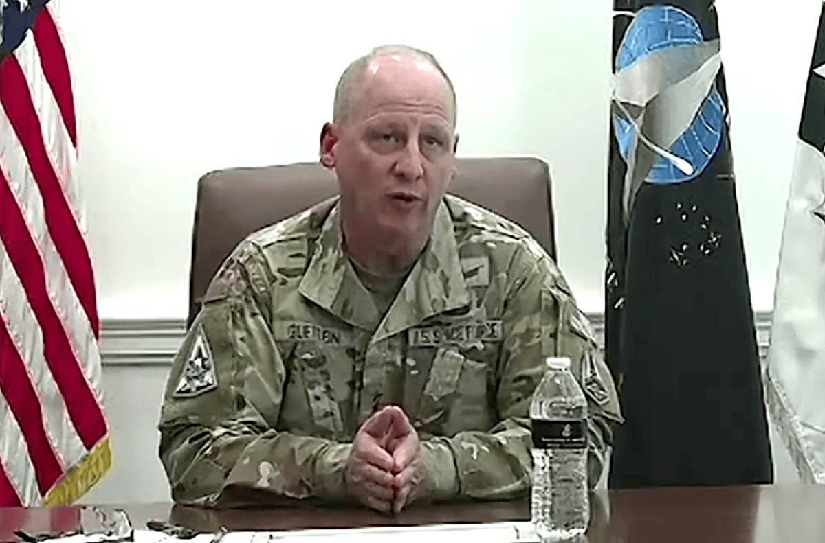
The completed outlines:
{"type": "Polygon", "coordinates": [[[74,97],[72,94],[72,78],[68,71],[66,49],[60,40],[60,34],[49,9],[40,10],[35,19],[35,44],[40,52],[40,66],[43,68],[46,81],[49,82],[54,100],[63,122],[66,125],[68,137],[72,139],[75,149],[78,148],[78,133],[74,119],[74,97]]]}

